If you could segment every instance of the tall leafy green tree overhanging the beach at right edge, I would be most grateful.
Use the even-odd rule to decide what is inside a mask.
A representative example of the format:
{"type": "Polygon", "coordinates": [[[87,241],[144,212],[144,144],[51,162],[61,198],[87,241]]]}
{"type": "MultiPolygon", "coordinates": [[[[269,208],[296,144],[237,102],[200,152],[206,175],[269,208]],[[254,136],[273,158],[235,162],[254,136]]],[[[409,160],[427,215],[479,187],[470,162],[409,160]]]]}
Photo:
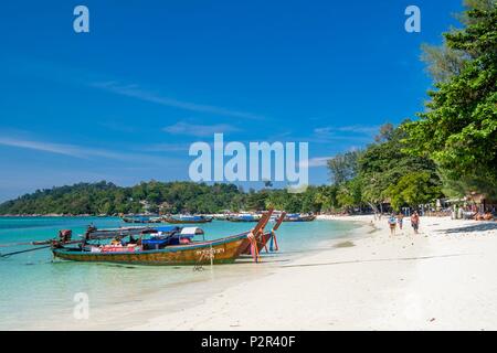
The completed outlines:
{"type": "MultiPolygon", "coordinates": [[[[445,180],[473,191],[497,190],[497,4],[474,2],[467,26],[445,33],[446,47],[464,53],[458,73],[430,92],[429,110],[406,124],[406,150],[433,159],[445,180]]],[[[466,192],[469,190],[466,190],[466,192]]]]}

